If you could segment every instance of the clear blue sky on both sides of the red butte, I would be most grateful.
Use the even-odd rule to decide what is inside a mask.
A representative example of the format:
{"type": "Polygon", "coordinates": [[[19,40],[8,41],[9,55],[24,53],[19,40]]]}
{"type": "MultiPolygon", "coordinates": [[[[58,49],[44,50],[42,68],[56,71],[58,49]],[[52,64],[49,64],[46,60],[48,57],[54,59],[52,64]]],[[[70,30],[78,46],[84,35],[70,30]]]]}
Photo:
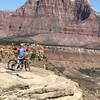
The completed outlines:
{"type": "MultiPolygon", "coordinates": [[[[0,10],[15,11],[22,6],[27,0],[0,0],[0,10]]],[[[93,8],[100,12],[100,0],[90,0],[93,8]]]]}

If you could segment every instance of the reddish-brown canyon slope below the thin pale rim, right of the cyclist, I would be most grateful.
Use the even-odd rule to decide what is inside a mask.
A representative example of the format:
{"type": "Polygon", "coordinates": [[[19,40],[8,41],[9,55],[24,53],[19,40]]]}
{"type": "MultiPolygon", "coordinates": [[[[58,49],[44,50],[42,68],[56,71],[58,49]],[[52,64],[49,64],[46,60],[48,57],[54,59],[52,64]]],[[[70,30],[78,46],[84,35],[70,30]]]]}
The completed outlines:
{"type": "Polygon", "coordinates": [[[100,50],[75,47],[47,47],[45,56],[58,68],[100,68],[100,50]]]}

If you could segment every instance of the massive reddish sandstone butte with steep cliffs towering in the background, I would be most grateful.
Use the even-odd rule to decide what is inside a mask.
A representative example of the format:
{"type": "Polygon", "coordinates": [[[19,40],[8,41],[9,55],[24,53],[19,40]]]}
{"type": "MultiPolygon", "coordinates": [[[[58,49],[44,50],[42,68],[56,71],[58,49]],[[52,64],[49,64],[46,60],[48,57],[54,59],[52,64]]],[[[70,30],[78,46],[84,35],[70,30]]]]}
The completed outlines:
{"type": "Polygon", "coordinates": [[[0,12],[1,38],[28,36],[26,40],[71,45],[82,37],[85,44],[88,36],[99,40],[99,26],[88,0],[28,0],[16,12],[0,12]],[[37,33],[42,36],[34,39],[37,33]],[[69,37],[75,40],[68,43],[69,37]]]}

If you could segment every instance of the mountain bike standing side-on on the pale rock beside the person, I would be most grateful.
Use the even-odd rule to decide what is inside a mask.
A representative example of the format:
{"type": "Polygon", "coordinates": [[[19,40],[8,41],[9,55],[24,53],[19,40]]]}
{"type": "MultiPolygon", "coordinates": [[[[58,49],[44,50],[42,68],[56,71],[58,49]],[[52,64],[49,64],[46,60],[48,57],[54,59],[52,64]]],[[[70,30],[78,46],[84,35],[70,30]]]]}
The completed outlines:
{"type": "Polygon", "coordinates": [[[8,61],[8,69],[10,70],[22,70],[25,68],[25,71],[30,71],[29,61],[27,59],[20,59],[19,63],[15,59],[8,61]]]}

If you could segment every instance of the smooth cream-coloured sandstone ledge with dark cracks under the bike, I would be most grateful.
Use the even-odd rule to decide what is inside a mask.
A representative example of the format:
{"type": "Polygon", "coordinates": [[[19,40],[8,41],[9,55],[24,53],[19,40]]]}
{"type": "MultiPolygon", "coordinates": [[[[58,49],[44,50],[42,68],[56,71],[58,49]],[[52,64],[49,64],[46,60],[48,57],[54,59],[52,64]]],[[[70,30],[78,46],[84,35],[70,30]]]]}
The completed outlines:
{"type": "Polygon", "coordinates": [[[13,72],[0,63],[0,100],[83,100],[76,82],[41,68],[13,72]]]}

